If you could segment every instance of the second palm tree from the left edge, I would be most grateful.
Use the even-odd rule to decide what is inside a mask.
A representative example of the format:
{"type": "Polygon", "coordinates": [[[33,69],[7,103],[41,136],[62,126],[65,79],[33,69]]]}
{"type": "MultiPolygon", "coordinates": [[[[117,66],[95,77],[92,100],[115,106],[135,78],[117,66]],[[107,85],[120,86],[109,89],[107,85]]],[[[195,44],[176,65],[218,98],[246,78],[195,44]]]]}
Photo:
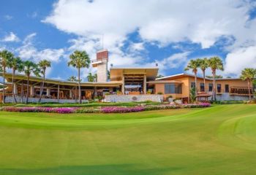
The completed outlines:
{"type": "Polygon", "coordinates": [[[7,66],[8,68],[12,69],[12,100],[16,104],[17,100],[15,98],[15,90],[14,90],[15,71],[18,71],[18,72],[23,71],[24,65],[23,65],[23,61],[19,57],[13,57],[7,66]]]}

